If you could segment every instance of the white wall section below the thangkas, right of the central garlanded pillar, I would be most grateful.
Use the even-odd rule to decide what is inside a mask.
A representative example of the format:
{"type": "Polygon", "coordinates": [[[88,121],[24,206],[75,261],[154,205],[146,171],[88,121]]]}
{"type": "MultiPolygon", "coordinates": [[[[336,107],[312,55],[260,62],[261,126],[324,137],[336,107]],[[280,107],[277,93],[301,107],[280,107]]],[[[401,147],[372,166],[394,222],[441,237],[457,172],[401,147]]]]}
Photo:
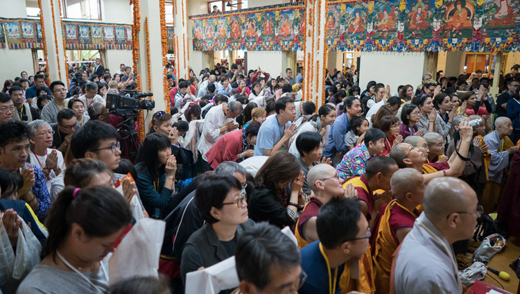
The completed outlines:
{"type": "Polygon", "coordinates": [[[399,85],[421,84],[424,53],[362,52],[359,87],[365,89],[370,80],[390,85],[392,93],[399,85]]]}

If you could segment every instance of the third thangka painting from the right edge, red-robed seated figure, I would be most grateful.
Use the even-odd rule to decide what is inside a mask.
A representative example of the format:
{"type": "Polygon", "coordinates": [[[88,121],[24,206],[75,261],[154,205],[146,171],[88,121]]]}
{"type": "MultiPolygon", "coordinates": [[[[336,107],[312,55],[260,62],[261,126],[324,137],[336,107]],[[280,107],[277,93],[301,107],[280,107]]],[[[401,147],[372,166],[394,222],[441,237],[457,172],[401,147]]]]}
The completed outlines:
{"type": "Polygon", "coordinates": [[[433,0],[408,0],[404,21],[405,39],[429,39],[433,30],[433,0]]]}

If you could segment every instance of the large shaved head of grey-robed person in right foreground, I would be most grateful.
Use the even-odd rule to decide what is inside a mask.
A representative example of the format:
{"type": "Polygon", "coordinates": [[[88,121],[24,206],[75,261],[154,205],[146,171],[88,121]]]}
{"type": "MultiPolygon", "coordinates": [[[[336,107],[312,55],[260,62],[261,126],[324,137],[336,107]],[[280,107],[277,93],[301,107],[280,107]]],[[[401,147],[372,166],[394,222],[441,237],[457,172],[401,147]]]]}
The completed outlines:
{"type": "Polygon", "coordinates": [[[444,177],[431,180],[424,191],[424,213],[434,223],[453,214],[465,211],[476,193],[469,184],[458,178],[444,177]]]}

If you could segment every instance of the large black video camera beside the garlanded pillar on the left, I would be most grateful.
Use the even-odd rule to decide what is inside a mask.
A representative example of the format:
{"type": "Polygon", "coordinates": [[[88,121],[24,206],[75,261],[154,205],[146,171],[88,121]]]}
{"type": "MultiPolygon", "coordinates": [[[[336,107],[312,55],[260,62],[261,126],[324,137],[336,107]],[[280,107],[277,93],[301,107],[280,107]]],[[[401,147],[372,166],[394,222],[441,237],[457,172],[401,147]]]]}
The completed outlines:
{"type": "Polygon", "coordinates": [[[139,110],[153,110],[155,101],[141,98],[151,97],[153,93],[136,90],[121,90],[119,94],[107,94],[107,110],[116,116],[137,116],[139,110]]]}

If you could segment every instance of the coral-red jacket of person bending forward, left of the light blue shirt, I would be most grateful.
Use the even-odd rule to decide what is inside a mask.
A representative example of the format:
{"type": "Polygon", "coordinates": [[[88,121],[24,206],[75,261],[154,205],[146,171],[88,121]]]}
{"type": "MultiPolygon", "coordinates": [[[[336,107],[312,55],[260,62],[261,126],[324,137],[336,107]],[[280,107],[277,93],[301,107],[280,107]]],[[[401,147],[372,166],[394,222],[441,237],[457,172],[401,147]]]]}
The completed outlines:
{"type": "Polygon", "coordinates": [[[243,152],[242,130],[234,130],[223,135],[206,153],[207,162],[211,168],[216,168],[220,162],[236,162],[243,152]]]}

